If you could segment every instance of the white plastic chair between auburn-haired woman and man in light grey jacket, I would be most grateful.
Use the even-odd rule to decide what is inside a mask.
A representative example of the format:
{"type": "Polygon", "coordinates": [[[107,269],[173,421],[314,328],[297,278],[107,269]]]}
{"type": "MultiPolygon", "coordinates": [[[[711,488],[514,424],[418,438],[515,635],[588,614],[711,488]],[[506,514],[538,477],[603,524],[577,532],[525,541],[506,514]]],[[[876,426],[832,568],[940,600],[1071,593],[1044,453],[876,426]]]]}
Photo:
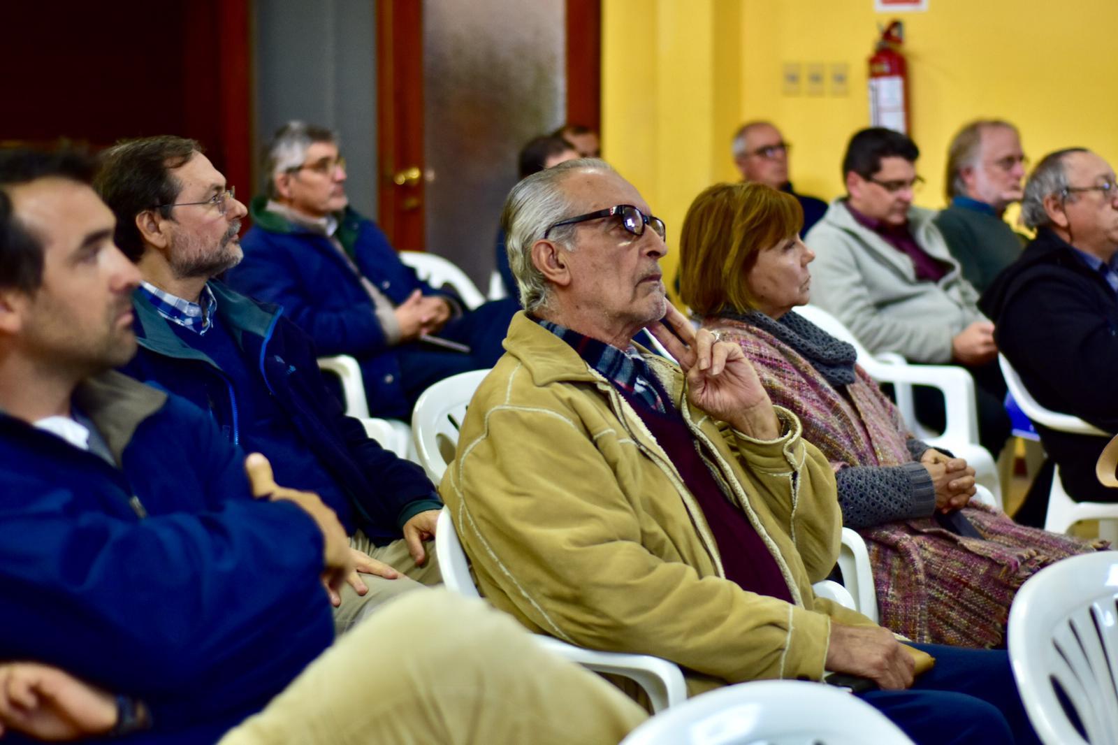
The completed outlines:
{"type": "Polygon", "coordinates": [[[897,408],[913,433],[922,427],[916,418],[912,386],[939,388],[944,394],[946,426],[937,436],[922,437],[932,447],[949,450],[975,469],[975,481],[985,487],[1002,508],[1002,481],[997,463],[989,451],[978,444],[978,409],[975,403],[975,381],[961,367],[955,365],[909,365],[893,352],[871,355],[842,321],[816,305],[802,305],[797,313],[831,336],[854,347],[858,364],[878,383],[890,383],[897,397],[897,408]]]}

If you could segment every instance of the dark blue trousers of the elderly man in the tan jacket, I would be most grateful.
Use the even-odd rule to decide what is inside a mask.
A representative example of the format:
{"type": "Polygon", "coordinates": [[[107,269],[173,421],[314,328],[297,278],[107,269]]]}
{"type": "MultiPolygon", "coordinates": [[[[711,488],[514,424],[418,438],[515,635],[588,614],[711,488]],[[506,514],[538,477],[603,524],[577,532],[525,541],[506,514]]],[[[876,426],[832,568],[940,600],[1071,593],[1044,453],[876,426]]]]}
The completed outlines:
{"type": "Polygon", "coordinates": [[[875,690],[862,700],[920,745],[1040,743],[1025,715],[1003,650],[912,644],[936,667],[909,690],[875,690]]]}

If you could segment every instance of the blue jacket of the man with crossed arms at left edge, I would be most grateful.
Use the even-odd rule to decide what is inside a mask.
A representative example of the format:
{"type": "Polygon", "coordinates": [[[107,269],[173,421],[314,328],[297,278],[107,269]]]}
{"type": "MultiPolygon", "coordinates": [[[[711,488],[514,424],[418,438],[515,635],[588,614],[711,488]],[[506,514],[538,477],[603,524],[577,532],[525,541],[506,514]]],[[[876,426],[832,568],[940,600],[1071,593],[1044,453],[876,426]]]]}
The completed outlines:
{"type": "Polygon", "coordinates": [[[0,660],[145,700],[136,742],[214,742],[331,643],[322,534],[187,402],[117,372],[74,400],[119,468],[0,414],[0,660]]]}

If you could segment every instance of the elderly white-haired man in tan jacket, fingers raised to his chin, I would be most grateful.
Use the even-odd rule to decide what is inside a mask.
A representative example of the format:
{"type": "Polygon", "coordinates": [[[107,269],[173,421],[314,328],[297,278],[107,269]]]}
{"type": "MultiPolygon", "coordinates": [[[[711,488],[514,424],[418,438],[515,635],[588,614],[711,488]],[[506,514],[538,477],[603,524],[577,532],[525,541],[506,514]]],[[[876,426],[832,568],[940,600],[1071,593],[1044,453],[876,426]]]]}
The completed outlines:
{"type": "Polygon", "coordinates": [[[885,689],[863,697],[920,743],[1035,742],[1004,652],[928,647],[913,682],[889,631],[814,596],[839,553],[831,465],[740,347],[667,304],[650,211],[599,160],[509,195],[525,312],[440,484],[483,594],[532,631],[671,660],[692,694],[832,670],[885,689]],[[631,346],[645,326],[682,370],[631,346]]]}

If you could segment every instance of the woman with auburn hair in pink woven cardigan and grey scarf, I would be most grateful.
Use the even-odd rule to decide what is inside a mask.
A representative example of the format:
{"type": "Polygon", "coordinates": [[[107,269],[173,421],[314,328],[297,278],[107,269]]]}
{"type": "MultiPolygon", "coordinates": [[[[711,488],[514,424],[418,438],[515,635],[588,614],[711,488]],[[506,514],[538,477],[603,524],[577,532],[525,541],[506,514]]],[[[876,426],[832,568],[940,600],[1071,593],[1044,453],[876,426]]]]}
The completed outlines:
{"type": "Polygon", "coordinates": [[[970,502],[974,469],[915,438],[854,348],[793,310],[811,298],[815,258],[802,225],[795,198],[767,186],[704,190],[683,221],[681,298],[741,346],[773,403],[795,412],[831,461],[843,522],[870,549],[881,624],[919,642],[1004,645],[1021,584],[1106,544],[970,502]]]}

